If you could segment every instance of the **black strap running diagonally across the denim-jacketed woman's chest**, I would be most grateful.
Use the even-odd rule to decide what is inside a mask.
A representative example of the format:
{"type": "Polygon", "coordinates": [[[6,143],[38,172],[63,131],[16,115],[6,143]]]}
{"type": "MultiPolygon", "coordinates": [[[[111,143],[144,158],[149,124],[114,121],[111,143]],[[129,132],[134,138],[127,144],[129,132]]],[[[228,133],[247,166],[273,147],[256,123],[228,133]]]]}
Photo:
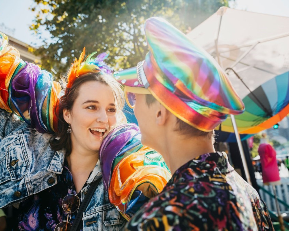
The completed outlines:
{"type": "Polygon", "coordinates": [[[75,219],[73,221],[73,224],[72,224],[70,231],[79,231],[82,229],[81,221],[82,221],[83,212],[87,208],[87,206],[88,206],[88,204],[92,198],[92,195],[94,194],[95,189],[97,188],[97,185],[99,184],[101,179],[102,179],[102,177],[100,177],[99,179],[97,179],[96,181],[91,183],[81,205],[79,206],[78,212],[75,216],[75,219]]]}

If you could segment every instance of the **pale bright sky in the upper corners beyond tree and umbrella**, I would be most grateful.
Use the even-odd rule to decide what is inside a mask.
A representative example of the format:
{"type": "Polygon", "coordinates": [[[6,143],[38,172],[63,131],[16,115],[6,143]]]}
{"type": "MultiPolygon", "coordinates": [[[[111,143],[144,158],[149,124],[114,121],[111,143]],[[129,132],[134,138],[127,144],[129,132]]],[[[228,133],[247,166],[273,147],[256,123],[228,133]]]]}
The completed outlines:
{"type": "MultiPolygon", "coordinates": [[[[33,0],[0,0],[0,31],[28,44],[39,44],[37,36],[29,30],[34,18],[29,7],[33,4],[33,0]]],[[[289,17],[289,0],[236,0],[230,7],[289,17]]],[[[49,33],[44,37],[48,38],[49,33]]]]}

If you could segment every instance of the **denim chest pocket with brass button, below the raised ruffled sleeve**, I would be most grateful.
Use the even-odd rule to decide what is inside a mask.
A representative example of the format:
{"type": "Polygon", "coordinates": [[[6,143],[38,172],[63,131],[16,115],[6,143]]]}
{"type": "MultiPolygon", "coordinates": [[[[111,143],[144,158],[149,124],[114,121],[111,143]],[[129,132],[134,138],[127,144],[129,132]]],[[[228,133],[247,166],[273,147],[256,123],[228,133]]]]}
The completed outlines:
{"type": "Polygon", "coordinates": [[[15,141],[6,148],[6,167],[11,180],[20,180],[25,176],[27,163],[20,142],[15,141]]]}

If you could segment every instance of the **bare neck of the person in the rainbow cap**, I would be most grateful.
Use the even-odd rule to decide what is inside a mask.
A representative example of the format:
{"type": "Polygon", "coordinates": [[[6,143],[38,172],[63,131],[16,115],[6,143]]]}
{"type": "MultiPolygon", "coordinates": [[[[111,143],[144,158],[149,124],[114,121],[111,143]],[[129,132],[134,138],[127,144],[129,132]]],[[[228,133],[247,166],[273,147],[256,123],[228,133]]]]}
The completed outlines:
{"type": "Polygon", "coordinates": [[[187,137],[174,134],[167,137],[158,150],[164,157],[171,173],[188,161],[205,153],[215,152],[214,145],[208,137],[187,137]]]}

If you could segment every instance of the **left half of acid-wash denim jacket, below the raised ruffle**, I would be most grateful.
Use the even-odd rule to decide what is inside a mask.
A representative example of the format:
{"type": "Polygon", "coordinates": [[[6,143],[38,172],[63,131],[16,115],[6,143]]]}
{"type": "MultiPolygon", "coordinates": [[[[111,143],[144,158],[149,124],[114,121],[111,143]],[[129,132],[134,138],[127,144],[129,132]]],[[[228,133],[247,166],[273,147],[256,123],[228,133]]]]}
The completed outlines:
{"type": "Polygon", "coordinates": [[[51,135],[0,110],[0,208],[57,183],[64,153],[49,147],[51,135]]]}

